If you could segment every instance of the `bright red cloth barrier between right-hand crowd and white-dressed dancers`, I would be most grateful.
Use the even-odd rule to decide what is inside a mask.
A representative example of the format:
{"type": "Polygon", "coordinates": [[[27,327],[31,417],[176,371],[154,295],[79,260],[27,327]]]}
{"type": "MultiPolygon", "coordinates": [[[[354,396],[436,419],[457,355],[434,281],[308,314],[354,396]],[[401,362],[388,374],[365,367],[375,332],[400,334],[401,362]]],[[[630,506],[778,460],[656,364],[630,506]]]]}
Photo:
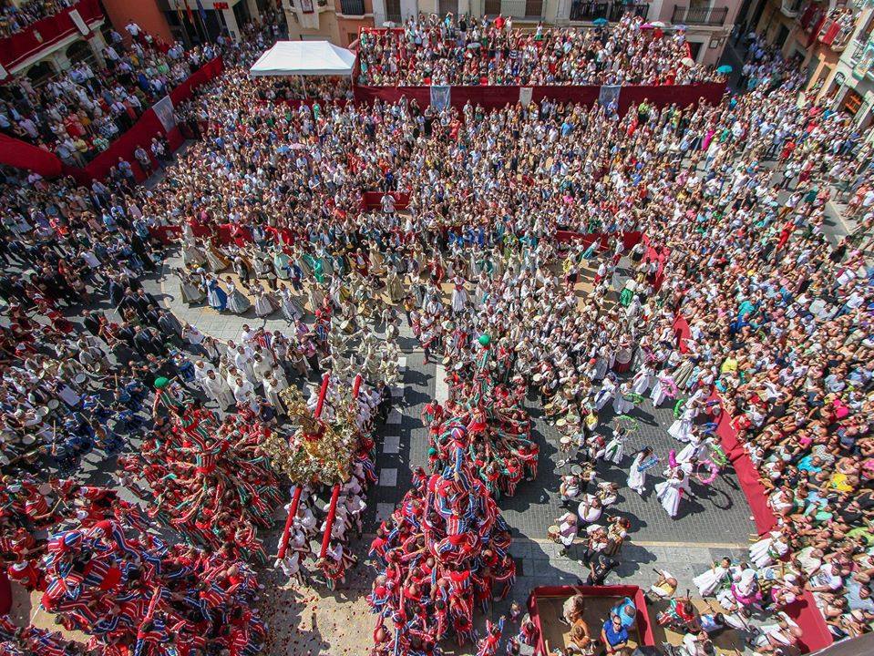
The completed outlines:
{"type": "MultiPolygon", "coordinates": [[[[687,353],[689,347],[685,340],[689,339],[691,331],[684,316],[677,315],[673,322],[673,330],[680,352],[687,353]]],[[[759,535],[764,535],[777,526],[776,515],[767,503],[766,489],[760,481],[756,466],[750,459],[744,445],[737,438],[734,418],[725,412],[722,396],[714,390],[709,400],[718,403],[719,418],[716,422],[716,436],[719,437],[725,456],[735,466],[737,482],[749,504],[750,512],[756,523],[756,531],[759,535]]],[[[826,620],[817,608],[816,600],[809,590],[805,590],[804,596],[800,600],[790,604],[786,612],[803,631],[801,644],[807,653],[828,647],[834,641],[826,620]]]]}

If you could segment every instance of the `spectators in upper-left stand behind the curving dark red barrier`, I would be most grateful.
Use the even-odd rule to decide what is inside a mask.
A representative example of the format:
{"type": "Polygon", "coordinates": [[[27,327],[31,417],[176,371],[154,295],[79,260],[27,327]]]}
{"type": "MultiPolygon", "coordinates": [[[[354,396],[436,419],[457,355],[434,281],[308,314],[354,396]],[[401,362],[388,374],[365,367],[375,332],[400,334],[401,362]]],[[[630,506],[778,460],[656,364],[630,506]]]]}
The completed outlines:
{"type": "MultiPolygon", "coordinates": [[[[93,63],[79,61],[38,85],[15,78],[0,100],[0,130],[83,167],[215,53],[210,44],[167,46],[131,22],[129,46],[113,30],[93,63]]],[[[161,149],[163,160],[169,153],[161,149]]]]}

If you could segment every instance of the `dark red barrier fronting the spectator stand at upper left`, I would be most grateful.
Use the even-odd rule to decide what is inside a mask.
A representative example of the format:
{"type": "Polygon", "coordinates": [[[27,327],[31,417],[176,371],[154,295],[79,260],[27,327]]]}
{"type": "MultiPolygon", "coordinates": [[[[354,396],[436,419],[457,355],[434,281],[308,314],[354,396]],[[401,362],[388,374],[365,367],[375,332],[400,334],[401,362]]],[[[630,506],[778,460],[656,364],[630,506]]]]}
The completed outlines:
{"type": "MultiPolygon", "coordinates": [[[[170,92],[170,99],[174,105],[187,100],[194,93],[194,89],[218,77],[224,70],[221,57],[216,57],[207,62],[184,82],[170,92]]],[[[170,142],[170,148],[178,149],[184,140],[179,128],[169,131],[161,124],[158,114],[153,108],[148,108],[139,117],[136,123],[124,134],[120,135],[108,149],[100,153],[95,159],[88,162],[84,168],[68,166],[57,158],[57,155],[45,149],[37,148],[20,139],[0,135],[0,164],[15,167],[16,169],[28,169],[36,171],[44,178],[55,178],[58,175],[72,176],[77,182],[89,184],[93,179],[106,178],[109,169],[118,164],[118,159],[126,159],[138,180],[146,178],[145,171],[139,167],[139,162],[134,157],[134,151],[142,146],[149,152],[152,165],[158,162],[151,156],[149,146],[151,140],[158,135],[164,135],[170,142]]]]}

